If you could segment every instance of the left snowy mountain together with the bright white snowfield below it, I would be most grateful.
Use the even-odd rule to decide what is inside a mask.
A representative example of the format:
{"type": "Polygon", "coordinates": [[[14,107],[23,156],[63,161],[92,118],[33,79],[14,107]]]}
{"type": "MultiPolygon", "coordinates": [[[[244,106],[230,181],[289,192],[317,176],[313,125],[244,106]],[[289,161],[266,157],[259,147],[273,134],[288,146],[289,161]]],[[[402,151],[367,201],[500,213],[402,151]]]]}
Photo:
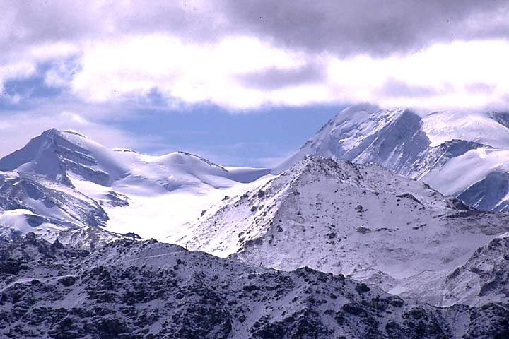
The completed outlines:
{"type": "MultiPolygon", "coordinates": [[[[56,129],[45,131],[21,150],[0,159],[0,170],[11,171],[8,175],[14,177],[31,178],[33,186],[40,186],[37,182],[48,185],[47,191],[49,188],[53,191],[40,194],[42,203],[47,201],[47,196],[81,194],[90,205],[83,209],[88,218],[100,214],[102,219],[78,220],[81,222],[78,226],[106,226],[112,232],[135,232],[147,238],[178,232],[180,225],[199,217],[212,203],[262,184],[270,172],[269,169],[222,167],[185,152],[150,156],[132,150],[112,150],[79,133],[56,129]],[[257,181],[259,178],[262,179],[257,181]]],[[[33,213],[40,210],[37,206],[42,206],[25,197],[21,201],[23,206],[16,208],[33,213]]],[[[65,203],[69,199],[59,201],[65,203]]],[[[67,213],[72,212],[73,206],[81,210],[75,201],[76,198],[69,201],[67,213]]],[[[8,209],[12,208],[4,208],[8,209]]],[[[0,216],[4,233],[38,232],[30,225],[21,225],[21,218],[13,214],[0,216]]],[[[48,216],[48,213],[40,214],[48,216]]],[[[64,220],[74,222],[69,218],[64,220]]]]}

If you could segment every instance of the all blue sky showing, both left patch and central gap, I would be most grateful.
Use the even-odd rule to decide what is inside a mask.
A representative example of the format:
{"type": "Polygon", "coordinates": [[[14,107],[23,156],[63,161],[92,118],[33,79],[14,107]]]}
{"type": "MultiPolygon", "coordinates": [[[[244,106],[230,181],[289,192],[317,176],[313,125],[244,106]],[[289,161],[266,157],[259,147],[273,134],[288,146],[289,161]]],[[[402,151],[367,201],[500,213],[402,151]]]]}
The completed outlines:
{"type": "MultiPolygon", "coordinates": [[[[53,102],[56,106],[71,102],[81,109],[93,106],[80,102],[64,88],[48,86],[45,72],[50,68],[50,65],[40,65],[35,76],[6,81],[0,109],[23,114],[40,102],[53,102]],[[9,97],[18,99],[9,100],[9,97]]],[[[120,107],[127,108],[129,114],[106,115],[97,122],[144,141],[132,146],[139,152],[160,155],[185,150],[222,165],[263,167],[276,165],[298,150],[344,105],[235,110],[197,104],[170,108],[157,94],[151,93],[141,100],[141,105],[124,102],[120,107]]]]}

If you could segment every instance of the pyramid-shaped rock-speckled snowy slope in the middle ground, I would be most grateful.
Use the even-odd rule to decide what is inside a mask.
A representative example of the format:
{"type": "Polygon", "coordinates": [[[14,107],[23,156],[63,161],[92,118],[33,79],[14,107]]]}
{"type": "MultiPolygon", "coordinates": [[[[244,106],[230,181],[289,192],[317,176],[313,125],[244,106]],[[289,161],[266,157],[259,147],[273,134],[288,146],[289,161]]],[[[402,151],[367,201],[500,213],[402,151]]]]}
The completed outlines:
{"type": "Polygon", "coordinates": [[[343,273],[441,305],[462,296],[430,285],[508,230],[509,215],[469,209],[380,165],[305,157],[168,241],[254,266],[343,273]]]}

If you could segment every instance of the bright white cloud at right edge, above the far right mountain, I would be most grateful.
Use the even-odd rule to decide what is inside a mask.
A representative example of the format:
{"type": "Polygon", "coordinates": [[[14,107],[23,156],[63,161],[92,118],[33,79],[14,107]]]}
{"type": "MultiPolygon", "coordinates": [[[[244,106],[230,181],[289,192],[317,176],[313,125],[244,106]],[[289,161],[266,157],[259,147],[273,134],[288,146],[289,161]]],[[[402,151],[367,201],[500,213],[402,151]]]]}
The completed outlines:
{"type": "MultiPolygon", "coordinates": [[[[402,57],[333,59],[329,79],[338,100],[423,109],[484,109],[507,105],[509,43],[501,40],[436,44],[402,57]],[[412,93],[387,93],[397,80],[412,93]]],[[[409,91],[406,91],[409,92],[409,91]]]]}

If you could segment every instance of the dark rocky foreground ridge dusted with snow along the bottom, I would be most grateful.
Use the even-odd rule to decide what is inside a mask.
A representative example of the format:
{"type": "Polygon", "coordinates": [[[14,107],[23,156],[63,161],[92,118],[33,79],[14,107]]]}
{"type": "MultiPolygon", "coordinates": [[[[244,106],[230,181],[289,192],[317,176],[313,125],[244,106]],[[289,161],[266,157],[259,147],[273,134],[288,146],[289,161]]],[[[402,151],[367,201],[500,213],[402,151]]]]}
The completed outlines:
{"type": "Polygon", "coordinates": [[[180,246],[88,253],[0,244],[5,338],[505,338],[509,311],[407,302],[343,275],[254,268],[180,246]]]}

